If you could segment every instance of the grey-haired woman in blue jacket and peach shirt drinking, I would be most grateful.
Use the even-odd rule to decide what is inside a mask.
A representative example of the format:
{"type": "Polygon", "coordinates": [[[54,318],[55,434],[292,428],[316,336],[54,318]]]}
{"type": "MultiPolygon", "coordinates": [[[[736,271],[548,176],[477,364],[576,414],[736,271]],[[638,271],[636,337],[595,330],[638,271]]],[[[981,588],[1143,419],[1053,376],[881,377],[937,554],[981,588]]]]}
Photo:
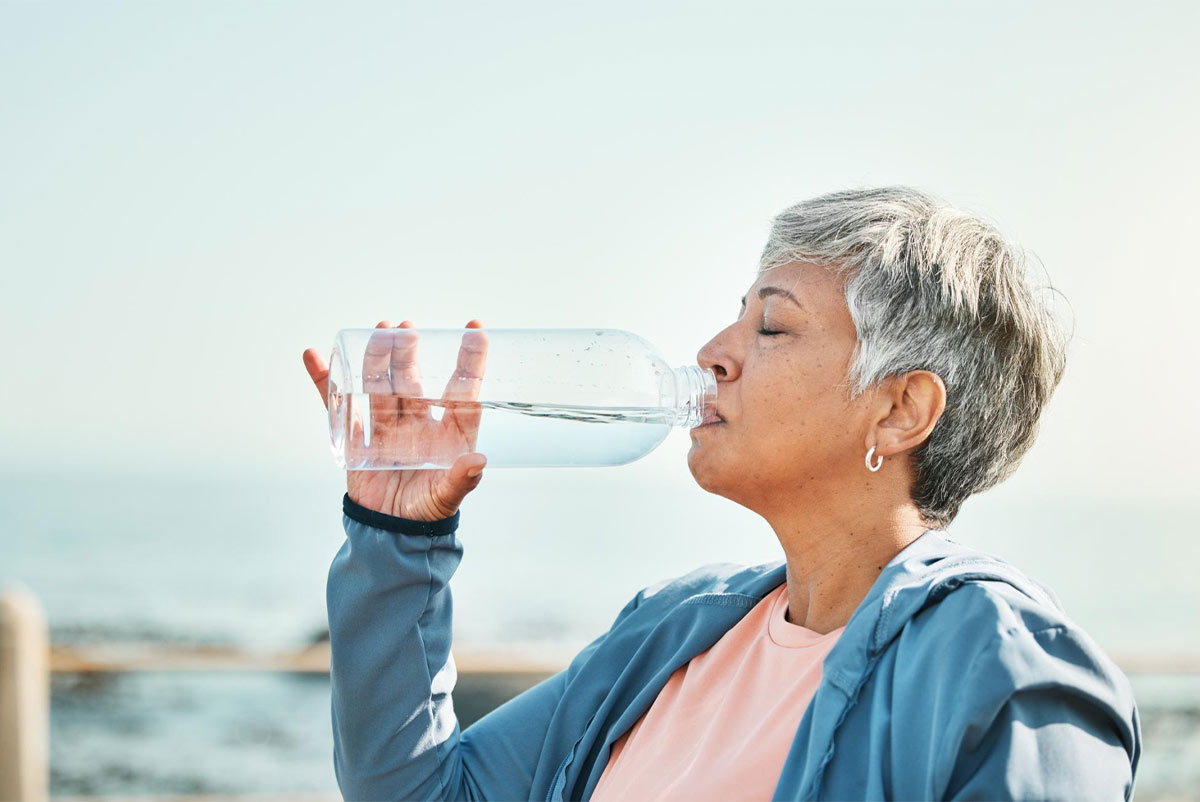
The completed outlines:
{"type": "MultiPolygon", "coordinates": [[[[719,420],[688,455],[784,559],[640,591],[565,670],[466,730],[449,581],[486,457],[349,473],[328,597],[342,792],[1128,800],[1126,677],[1049,589],[943,532],[1032,444],[1064,349],[979,219],[902,187],[787,209],[700,351],[719,420]]],[[[323,360],[305,364],[324,397],[323,360]]]]}

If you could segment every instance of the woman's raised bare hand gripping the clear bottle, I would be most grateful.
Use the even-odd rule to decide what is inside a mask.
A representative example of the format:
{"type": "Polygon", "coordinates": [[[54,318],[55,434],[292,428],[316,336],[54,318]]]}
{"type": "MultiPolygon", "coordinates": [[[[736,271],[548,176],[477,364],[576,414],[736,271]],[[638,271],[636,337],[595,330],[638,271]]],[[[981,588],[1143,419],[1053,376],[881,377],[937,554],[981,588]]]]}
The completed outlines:
{"type": "MultiPolygon", "coordinates": [[[[468,329],[482,325],[479,321],[467,323],[468,329]]],[[[382,321],[376,328],[414,327],[412,321],[398,327],[382,321]]],[[[443,471],[347,471],[346,491],[352,501],[367,509],[415,521],[438,521],[455,514],[467,493],[479,485],[487,463],[486,456],[474,453],[482,414],[475,402],[486,360],[487,335],[464,334],[458,366],[442,395],[448,403],[442,420],[434,420],[430,403],[415,400],[422,397],[416,337],[380,337],[378,343],[372,340],[367,345],[362,359],[362,390],[371,394],[372,448],[404,450],[406,444],[418,444],[422,453],[432,451],[434,456],[458,456],[443,471]]],[[[304,352],[304,365],[328,407],[329,365],[316,348],[304,352]]],[[[362,443],[361,420],[354,423],[352,442],[362,443]]]]}

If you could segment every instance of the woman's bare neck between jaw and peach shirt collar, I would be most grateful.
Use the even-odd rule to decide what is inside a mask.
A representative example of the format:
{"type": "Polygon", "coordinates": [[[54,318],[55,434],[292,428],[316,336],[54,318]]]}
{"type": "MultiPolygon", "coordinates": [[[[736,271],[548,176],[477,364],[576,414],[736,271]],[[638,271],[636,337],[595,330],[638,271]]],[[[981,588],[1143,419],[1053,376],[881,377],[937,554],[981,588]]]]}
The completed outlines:
{"type": "Polygon", "coordinates": [[[911,499],[876,507],[821,504],[768,522],[787,558],[787,620],[816,633],[844,627],[883,567],[928,526],[911,499]]]}

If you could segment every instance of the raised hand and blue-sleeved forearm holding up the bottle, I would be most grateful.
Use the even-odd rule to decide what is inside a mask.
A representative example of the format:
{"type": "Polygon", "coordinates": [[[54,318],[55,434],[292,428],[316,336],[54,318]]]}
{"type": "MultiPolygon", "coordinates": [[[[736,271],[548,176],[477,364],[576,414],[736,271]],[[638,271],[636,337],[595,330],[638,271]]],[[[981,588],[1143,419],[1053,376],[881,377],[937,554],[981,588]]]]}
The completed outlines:
{"type": "MultiPolygon", "coordinates": [[[[366,421],[354,415],[350,462],[376,443],[407,456],[416,444],[457,456],[448,471],[346,473],[347,540],[329,570],[326,604],[334,771],[347,797],[460,796],[449,582],[462,559],[457,510],[487,462],[474,453],[487,336],[472,329],[481,327],[467,323],[442,395],[455,403],[440,420],[424,401],[418,337],[390,331],[414,328],[410,321],[380,321],[365,347],[361,387],[372,394],[372,445],[366,421]]],[[[304,364],[329,409],[329,365],[313,348],[304,364]]]]}

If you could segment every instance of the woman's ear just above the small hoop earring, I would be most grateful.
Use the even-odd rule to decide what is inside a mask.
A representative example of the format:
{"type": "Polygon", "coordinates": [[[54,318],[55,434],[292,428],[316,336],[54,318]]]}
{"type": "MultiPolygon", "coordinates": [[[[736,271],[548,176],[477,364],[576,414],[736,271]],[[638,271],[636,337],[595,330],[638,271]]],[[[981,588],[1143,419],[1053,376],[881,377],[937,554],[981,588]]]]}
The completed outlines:
{"type": "Polygon", "coordinates": [[[946,409],[946,384],[928,370],[888,377],[876,395],[878,418],[865,448],[880,456],[917,449],[934,431],[946,409]]]}

